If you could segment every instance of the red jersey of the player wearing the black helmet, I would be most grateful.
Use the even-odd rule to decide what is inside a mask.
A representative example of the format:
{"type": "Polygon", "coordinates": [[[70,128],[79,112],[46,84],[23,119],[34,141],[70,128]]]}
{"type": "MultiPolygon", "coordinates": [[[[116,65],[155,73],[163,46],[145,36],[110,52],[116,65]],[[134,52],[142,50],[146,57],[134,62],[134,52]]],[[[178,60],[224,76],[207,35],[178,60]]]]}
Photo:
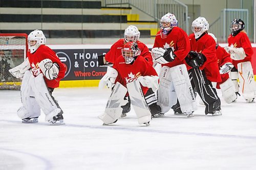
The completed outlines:
{"type": "Polygon", "coordinates": [[[245,32],[240,32],[236,36],[232,36],[231,34],[227,38],[228,46],[233,46],[236,48],[244,48],[244,52],[246,57],[243,60],[232,60],[233,65],[238,68],[238,63],[251,61],[251,56],[253,54],[253,50],[251,47],[250,40],[245,32]]]}

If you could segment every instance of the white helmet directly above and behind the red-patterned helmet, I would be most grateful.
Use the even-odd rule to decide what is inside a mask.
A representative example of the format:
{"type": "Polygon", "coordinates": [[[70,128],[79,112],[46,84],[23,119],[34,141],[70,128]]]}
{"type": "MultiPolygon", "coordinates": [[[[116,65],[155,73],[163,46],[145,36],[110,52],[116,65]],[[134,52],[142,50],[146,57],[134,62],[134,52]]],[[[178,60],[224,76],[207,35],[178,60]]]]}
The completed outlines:
{"type": "Polygon", "coordinates": [[[136,42],[140,38],[140,32],[136,26],[129,26],[124,30],[123,34],[125,42],[136,42]]]}

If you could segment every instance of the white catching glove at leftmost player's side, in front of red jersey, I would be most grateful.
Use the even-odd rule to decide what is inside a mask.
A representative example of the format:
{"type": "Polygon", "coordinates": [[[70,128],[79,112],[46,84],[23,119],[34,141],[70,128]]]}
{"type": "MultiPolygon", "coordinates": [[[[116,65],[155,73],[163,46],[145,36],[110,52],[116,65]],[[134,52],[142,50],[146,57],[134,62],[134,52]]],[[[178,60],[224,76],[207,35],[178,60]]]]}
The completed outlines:
{"type": "Polygon", "coordinates": [[[50,59],[44,59],[38,64],[39,68],[42,71],[42,74],[48,80],[54,80],[58,77],[59,74],[59,65],[57,63],[53,63],[50,59]]]}

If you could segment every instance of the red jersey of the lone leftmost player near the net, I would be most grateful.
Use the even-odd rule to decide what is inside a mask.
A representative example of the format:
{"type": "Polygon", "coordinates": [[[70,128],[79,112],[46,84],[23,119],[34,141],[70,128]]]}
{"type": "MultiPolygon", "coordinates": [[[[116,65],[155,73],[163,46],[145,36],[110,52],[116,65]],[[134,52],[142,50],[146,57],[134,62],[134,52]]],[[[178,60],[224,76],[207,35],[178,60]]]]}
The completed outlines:
{"type": "Polygon", "coordinates": [[[66,68],[60,62],[56,53],[53,50],[51,50],[51,48],[49,48],[46,45],[40,45],[33,54],[31,54],[30,51],[28,51],[27,56],[29,58],[30,67],[32,68],[32,72],[35,77],[41,73],[41,70],[40,70],[38,64],[42,60],[50,59],[50,60],[52,60],[53,63],[57,63],[59,65],[58,77],[54,80],[48,80],[44,76],[44,79],[45,79],[47,87],[50,87],[50,88],[59,87],[59,81],[65,76],[66,68]]]}

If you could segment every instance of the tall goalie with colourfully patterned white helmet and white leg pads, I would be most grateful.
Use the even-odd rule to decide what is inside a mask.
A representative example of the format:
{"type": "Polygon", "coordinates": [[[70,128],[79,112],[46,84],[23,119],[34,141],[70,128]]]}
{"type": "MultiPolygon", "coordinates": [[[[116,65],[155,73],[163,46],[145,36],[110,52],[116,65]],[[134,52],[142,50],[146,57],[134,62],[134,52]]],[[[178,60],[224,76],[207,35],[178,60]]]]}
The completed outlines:
{"type": "Polygon", "coordinates": [[[190,51],[188,36],[178,27],[178,20],[171,13],[162,16],[160,29],[152,48],[153,58],[162,64],[158,90],[158,104],[162,112],[158,116],[170,108],[175,114],[193,116],[196,100],[184,60],[190,51]]]}

